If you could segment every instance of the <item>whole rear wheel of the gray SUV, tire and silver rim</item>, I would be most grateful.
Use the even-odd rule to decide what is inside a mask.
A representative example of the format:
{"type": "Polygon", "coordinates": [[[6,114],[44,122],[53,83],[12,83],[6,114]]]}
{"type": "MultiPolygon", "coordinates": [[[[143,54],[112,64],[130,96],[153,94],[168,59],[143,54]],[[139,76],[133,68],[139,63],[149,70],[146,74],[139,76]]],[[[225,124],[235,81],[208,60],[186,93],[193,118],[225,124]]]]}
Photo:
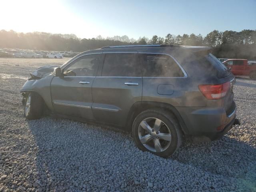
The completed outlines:
{"type": "Polygon", "coordinates": [[[163,158],[170,157],[182,143],[180,124],[167,110],[141,112],[133,122],[132,136],[140,150],[163,158]]]}

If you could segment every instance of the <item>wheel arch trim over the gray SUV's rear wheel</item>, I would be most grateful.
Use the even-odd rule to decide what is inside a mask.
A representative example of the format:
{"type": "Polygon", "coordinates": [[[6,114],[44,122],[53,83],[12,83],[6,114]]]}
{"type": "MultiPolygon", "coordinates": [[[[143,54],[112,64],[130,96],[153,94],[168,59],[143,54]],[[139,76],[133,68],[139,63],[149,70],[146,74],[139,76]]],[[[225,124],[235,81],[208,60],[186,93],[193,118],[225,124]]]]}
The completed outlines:
{"type": "Polygon", "coordinates": [[[172,112],[179,124],[180,127],[182,129],[183,134],[188,134],[188,128],[182,118],[182,116],[180,115],[180,113],[178,112],[178,110],[172,106],[171,104],[168,103],[162,103],[162,102],[152,102],[152,101],[142,101],[142,102],[136,102],[133,104],[133,106],[131,107],[128,116],[126,118],[126,131],[130,132],[132,130],[132,123],[134,121],[134,119],[136,118],[136,116],[138,116],[138,114],[140,114],[142,111],[147,110],[147,109],[166,109],[169,110],[170,112],[172,112]]]}

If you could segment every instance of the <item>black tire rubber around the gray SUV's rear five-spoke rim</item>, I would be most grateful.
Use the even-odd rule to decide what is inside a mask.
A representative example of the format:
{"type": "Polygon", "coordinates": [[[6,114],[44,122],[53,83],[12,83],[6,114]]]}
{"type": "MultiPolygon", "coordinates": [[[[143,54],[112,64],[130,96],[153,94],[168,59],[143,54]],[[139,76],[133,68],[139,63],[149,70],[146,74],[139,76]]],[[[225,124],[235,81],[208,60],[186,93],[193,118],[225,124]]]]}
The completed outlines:
{"type": "Polygon", "coordinates": [[[142,113],[140,113],[134,120],[134,123],[132,125],[132,136],[134,138],[134,141],[136,143],[136,145],[138,146],[139,149],[143,150],[143,151],[149,151],[153,154],[156,154],[158,156],[164,157],[164,158],[168,158],[169,156],[171,156],[179,147],[179,140],[181,140],[180,137],[180,132],[179,130],[180,126],[176,120],[176,118],[170,114],[170,113],[166,113],[164,110],[163,111],[159,111],[159,110],[146,110],[142,113]],[[170,146],[164,150],[163,152],[152,152],[149,151],[147,148],[144,147],[144,145],[140,142],[139,137],[138,137],[138,127],[139,124],[142,120],[144,120],[145,118],[149,118],[149,117],[153,117],[153,118],[158,118],[160,119],[162,122],[164,122],[166,124],[166,126],[168,126],[171,135],[172,135],[172,141],[170,146]]]}

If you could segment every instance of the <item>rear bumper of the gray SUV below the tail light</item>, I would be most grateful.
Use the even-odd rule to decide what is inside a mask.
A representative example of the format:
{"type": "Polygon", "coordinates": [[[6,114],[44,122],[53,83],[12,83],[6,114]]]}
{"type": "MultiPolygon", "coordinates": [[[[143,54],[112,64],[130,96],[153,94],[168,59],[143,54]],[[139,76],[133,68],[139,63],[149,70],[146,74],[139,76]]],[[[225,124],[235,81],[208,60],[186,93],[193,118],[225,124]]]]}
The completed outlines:
{"type": "Polygon", "coordinates": [[[236,107],[226,114],[224,108],[178,107],[189,135],[207,136],[212,140],[220,138],[232,128],[236,107]]]}

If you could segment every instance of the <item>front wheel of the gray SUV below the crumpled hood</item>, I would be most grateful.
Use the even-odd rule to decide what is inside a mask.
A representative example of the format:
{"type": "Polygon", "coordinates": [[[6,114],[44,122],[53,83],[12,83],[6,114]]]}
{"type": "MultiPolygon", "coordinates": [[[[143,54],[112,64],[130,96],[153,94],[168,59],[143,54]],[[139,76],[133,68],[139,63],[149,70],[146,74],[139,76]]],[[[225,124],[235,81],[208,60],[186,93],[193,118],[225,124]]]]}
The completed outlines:
{"type": "Polygon", "coordinates": [[[27,119],[39,119],[43,114],[44,101],[36,92],[30,92],[26,97],[24,116],[27,119]]]}

